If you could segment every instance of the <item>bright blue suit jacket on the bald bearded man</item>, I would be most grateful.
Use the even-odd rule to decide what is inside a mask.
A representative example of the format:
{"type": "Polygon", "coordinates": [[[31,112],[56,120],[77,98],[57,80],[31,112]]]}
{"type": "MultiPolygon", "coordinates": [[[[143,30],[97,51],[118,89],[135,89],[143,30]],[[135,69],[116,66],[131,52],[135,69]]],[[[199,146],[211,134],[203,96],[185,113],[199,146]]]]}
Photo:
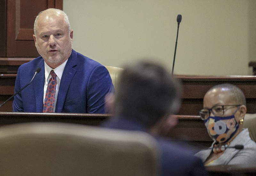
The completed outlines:
{"type": "MultiPolygon", "coordinates": [[[[31,84],[14,96],[13,111],[42,112],[44,101],[44,60],[38,57],[22,64],[14,91],[28,84],[37,67],[41,71],[31,84]]],[[[105,113],[104,98],[114,86],[108,70],[100,63],[72,50],[59,84],[55,112],[105,113]]]]}

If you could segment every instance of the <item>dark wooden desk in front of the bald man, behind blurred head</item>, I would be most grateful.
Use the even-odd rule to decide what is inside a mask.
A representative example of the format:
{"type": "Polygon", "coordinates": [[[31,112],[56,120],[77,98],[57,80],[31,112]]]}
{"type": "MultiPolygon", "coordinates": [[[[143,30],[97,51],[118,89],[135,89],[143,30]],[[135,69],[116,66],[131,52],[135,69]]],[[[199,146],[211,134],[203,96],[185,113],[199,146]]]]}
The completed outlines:
{"type": "MultiPolygon", "coordinates": [[[[0,112],[0,126],[25,122],[64,122],[97,126],[110,116],[110,114],[0,112]]],[[[164,137],[212,143],[199,116],[177,115],[177,118],[179,120],[177,126],[171,130],[165,129],[168,133],[162,134],[164,137]]]]}

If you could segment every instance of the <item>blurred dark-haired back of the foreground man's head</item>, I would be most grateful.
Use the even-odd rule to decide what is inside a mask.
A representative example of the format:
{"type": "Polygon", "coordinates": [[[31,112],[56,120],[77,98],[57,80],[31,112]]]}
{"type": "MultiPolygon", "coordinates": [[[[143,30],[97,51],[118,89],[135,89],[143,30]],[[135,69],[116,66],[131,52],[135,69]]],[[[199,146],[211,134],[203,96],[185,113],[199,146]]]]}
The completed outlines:
{"type": "Polygon", "coordinates": [[[122,72],[116,90],[114,114],[132,118],[146,127],[180,107],[181,84],[162,66],[139,62],[122,72]]]}

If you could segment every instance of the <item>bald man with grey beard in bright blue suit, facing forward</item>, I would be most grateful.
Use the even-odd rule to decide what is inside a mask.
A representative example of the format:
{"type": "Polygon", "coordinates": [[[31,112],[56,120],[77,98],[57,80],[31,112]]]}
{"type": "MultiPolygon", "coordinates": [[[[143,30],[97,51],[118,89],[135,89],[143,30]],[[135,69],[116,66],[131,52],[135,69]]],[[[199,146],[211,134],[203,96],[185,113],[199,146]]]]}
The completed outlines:
{"type": "Polygon", "coordinates": [[[57,84],[52,112],[105,113],[105,95],[114,91],[112,80],[104,66],[72,50],[73,30],[66,13],[59,9],[40,12],[33,37],[41,56],[20,66],[14,91],[28,84],[38,67],[41,71],[14,97],[13,111],[43,112],[53,70],[57,84]]]}

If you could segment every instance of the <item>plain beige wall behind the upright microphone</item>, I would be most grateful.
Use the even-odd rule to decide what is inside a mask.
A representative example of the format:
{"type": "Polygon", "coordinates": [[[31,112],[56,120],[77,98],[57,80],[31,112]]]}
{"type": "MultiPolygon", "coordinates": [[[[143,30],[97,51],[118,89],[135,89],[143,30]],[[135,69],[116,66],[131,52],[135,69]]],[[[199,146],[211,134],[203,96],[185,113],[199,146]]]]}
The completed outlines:
{"type": "Polygon", "coordinates": [[[63,0],[73,48],[116,67],[146,57],[172,70],[181,14],[174,74],[182,75],[252,75],[255,9],[254,0],[63,0]]]}

